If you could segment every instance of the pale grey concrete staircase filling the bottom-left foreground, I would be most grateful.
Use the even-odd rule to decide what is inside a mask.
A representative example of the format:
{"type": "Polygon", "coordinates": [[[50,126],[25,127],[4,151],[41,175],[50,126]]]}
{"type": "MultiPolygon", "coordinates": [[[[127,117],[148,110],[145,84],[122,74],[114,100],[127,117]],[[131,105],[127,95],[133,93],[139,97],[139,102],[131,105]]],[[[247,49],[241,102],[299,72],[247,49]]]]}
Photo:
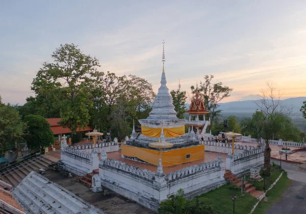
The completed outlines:
{"type": "Polygon", "coordinates": [[[27,213],[103,213],[66,189],[50,182],[45,177],[31,172],[12,191],[14,198],[27,213]]]}

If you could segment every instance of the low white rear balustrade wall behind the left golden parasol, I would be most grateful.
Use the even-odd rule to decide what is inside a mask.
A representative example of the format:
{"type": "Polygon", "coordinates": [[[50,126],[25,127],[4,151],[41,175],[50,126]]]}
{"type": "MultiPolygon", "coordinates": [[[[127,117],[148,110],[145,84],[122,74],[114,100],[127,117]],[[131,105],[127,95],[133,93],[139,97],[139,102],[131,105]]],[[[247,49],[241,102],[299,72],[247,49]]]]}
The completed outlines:
{"type": "MultiPolygon", "coordinates": [[[[73,147],[74,149],[78,149],[80,151],[91,153],[93,144],[77,145],[77,146],[70,146],[70,147],[73,147]]],[[[118,151],[119,144],[118,142],[96,143],[95,148],[98,154],[102,153],[103,150],[105,150],[108,153],[108,152],[118,151]]]]}

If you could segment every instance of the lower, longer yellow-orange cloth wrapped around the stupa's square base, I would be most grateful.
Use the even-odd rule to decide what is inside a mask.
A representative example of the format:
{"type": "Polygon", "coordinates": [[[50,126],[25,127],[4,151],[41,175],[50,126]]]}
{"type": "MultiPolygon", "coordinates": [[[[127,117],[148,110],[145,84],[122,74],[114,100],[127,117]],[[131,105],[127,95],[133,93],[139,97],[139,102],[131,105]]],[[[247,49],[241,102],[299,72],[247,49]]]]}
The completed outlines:
{"type": "MultiPolygon", "coordinates": [[[[205,145],[197,145],[186,148],[172,149],[168,151],[163,151],[162,154],[162,165],[164,167],[172,166],[175,164],[182,164],[190,161],[196,161],[203,159],[205,145]],[[190,158],[186,158],[186,155],[190,154],[190,158]]],[[[140,148],[136,146],[121,145],[121,154],[129,157],[136,157],[142,161],[158,165],[160,154],[157,150],[140,148]]]]}

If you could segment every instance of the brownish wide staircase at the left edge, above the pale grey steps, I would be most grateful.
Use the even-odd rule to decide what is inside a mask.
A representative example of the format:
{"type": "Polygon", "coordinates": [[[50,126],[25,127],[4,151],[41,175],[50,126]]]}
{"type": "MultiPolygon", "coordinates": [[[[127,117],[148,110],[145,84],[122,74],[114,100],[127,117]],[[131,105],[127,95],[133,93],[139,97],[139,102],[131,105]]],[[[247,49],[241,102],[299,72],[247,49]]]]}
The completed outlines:
{"type": "Polygon", "coordinates": [[[11,169],[6,169],[2,172],[0,176],[13,187],[17,186],[21,180],[27,176],[30,172],[36,171],[39,169],[46,169],[48,165],[51,164],[51,161],[47,158],[40,156],[30,161],[16,164],[11,169]]]}

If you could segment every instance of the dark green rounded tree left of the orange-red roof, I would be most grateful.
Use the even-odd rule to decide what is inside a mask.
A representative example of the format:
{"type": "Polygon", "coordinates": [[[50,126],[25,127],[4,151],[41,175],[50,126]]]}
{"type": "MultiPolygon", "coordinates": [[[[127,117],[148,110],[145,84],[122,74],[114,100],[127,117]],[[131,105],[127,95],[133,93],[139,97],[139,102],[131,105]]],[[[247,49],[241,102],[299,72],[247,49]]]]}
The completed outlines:
{"type": "Polygon", "coordinates": [[[54,144],[53,132],[45,118],[40,115],[30,114],[24,117],[24,121],[28,126],[24,139],[30,149],[40,149],[43,152],[44,147],[54,144]]]}

